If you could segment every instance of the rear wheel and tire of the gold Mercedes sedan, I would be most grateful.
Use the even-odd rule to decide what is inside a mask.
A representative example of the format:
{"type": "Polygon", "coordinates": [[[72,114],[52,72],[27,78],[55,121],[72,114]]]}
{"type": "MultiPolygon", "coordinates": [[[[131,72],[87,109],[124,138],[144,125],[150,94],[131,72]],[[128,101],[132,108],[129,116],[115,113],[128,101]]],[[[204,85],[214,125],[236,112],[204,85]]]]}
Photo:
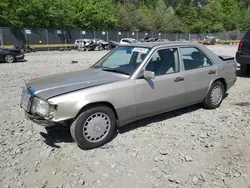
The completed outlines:
{"type": "Polygon", "coordinates": [[[225,86],[220,81],[214,82],[202,103],[203,107],[206,109],[218,108],[223,101],[224,95],[225,86]]]}

